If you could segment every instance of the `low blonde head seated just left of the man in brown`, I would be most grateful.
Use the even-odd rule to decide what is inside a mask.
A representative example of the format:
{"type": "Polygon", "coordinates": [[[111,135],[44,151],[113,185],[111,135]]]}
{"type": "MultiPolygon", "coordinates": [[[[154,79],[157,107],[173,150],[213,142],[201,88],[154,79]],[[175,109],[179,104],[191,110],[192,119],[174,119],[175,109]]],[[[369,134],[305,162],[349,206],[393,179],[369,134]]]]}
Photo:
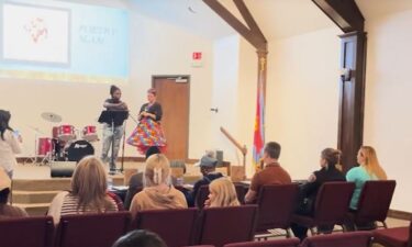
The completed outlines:
{"type": "Polygon", "coordinates": [[[209,184],[209,199],[204,206],[235,206],[241,205],[237,200],[236,189],[229,178],[219,178],[209,184]]]}

